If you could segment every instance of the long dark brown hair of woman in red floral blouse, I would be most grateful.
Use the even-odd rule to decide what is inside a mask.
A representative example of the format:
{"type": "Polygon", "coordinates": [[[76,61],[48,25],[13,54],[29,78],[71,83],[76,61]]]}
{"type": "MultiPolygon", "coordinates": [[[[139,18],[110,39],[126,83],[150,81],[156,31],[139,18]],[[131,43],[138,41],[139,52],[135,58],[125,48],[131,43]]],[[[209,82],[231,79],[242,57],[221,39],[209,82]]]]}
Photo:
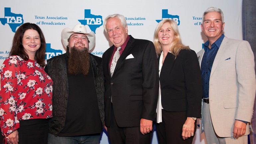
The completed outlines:
{"type": "Polygon", "coordinates": [[[46,65],[45,64],[45,50],[46,50],[45,37],[44,37],[44,34],[43,34],[42,30],[40,29],[40,27],[34,23],[29,23],[29,22],[24,23],[17,29],[17,31],[13,37],[12,48],[11,48],[9,56],[18,55],[24,60],[29,60],[29,56],[25,52],[23,45],[22,45],[22,39],[23,39],[24,33],[28,29],[36,30],[39,33],[41,46],[36,52],[35,60],[37,61],[37,63],[40,66],[44,67],[46,65]]]}

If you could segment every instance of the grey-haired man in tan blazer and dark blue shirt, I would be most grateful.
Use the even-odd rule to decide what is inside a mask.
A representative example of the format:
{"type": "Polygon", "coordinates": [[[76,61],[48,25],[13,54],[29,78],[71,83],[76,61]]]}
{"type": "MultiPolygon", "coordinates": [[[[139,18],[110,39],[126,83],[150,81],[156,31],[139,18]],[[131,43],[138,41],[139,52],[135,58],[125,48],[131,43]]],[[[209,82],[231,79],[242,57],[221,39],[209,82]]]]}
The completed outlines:
{"type": "Polygon", "coordinates": [[[201,132],[207,144],[247,143],[256,91],[254,55],[247,41],[229,39],[223,12],[208,8],[201,28],[208,41],[197,53],[203,102],[201,132]]]}

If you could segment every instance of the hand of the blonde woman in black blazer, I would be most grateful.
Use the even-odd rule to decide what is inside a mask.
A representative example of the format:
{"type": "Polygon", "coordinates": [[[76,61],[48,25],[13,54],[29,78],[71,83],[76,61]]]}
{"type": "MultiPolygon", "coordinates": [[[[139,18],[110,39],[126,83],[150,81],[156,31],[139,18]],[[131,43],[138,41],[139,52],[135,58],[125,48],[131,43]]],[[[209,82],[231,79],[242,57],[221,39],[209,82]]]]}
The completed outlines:
{"type": "Polygon", "coordinates": [[[194,127],[195,127],[195,120],[193,118],[188,117],[182,127],[182,138],[188,139],[191,136],[194,136],[194,127]]]}

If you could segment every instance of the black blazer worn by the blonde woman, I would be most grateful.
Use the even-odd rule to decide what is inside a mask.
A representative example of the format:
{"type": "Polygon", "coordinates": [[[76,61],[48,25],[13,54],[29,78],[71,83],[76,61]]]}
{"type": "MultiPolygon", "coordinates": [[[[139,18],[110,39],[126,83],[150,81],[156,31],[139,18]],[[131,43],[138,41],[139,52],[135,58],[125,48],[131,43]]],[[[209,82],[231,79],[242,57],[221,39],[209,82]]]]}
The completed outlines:
{"type": "MultiPolygon", "coordinates": [[[[160,56],[158,58],[158,61],[160,56]]],[[[160,73],[162,107],[166,111],[187,111],[187,117],[201,117],[201,70],[193,50],[168,53],[160,73]]]]}

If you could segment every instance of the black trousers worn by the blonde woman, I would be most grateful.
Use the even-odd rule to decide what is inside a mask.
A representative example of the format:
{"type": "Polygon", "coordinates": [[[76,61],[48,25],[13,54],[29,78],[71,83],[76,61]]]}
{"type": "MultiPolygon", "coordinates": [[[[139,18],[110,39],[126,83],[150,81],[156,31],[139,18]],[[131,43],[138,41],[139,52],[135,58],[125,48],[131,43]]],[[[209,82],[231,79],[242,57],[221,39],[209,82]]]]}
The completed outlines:
{"type": "Polygon", "coordinates": [[[162,123],[156,123],[159,144],[192,144],[193,137],[182,138],[182,127],[186,120],[187,111],[168,112],[162,109],[162,123]]]}

